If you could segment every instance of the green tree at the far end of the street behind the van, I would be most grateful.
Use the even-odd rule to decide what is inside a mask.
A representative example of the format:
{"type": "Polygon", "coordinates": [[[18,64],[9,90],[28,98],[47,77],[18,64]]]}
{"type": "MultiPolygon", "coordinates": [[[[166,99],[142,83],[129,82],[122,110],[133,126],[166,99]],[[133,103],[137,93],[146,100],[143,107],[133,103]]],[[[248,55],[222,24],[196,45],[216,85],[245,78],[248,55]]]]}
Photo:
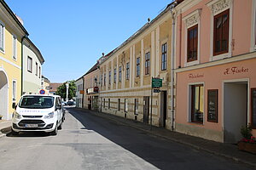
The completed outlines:
{"type": "MultiPolygon", "coordinates": [[[[73,99],[73,97],[75,97],[76,95],[76,84],[74,82],[74,80],[72,81],[67,81],[69,84],[69,88],[68,88],[68,99],[73,99]]],[[[66,99],[67,98],[67,87],[66,87],[66,83],[64,82],[59,88],[57,88],[57,95],[60,95],[62,99],[66,99]]]]}

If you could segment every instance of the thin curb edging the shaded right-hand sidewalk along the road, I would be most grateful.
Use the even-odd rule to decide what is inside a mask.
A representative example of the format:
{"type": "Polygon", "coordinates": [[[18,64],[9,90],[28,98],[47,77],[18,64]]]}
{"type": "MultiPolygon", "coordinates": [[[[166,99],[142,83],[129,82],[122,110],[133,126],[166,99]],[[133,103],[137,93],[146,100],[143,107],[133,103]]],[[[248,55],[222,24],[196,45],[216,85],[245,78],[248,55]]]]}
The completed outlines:
{"type": "MultiPolygon", "coordinates": [[[[79,108],[76,108],[76,109],[79,109],[79,108]]],[[[81,110],[83,111],[84,109],[81,109],[81,110]]],[[[84,111],[87,111],[87,110],[84,110],[84,111]]],[[[92,113],[93,113],[94,115],[96,115],[96,116],[101,116],[101,117],[103,117],[103,118],[107,118],[108,120],[111,120],[111,121],[114,121],[114,122],[119,122],[118,120],[113,119],[113,118],[111,118],[111,117],[100,115],[100,114],[108,115],[108,113],[95,112],[95,111],[90,111],[90,112],[92,112],[92,113]],[[100,114],[96,114],[96,113],[100,113],[100,114]]],[[[109,115],[111,115],[111,114],[109,114],[109,115]]],[[[115,115],[111,115],[111,116],[115,116],[115,115]]],[[[122,117],[121,117],[121,118],[122,118],[122,117]]],[[[132,120],[131,120],[131,121],[132,121],[132,120]]],[[[190,147],[192,147],[192,148],[194,148],[194,149],[196,149],[196,150],[204,150],[204,151],[206,151],[206,152],[208,152],[208,153],[211,153],[211,154],[213,154],[213,155],[216,155],[216,156],[222,156],[222,157],[228,158],[228,159],[230,159],[230,160],[232,160],[232,161],[236,161],[236,162],[240,162],[240,163],[243,163],[243,164],[247,164],[247,165],[250,166],[250,167],[256,167],[256,164],[251,163],[251,162],[249,162],[249,161],[241,160],[240,158],[237,158],[237,157],[234,157],[234,156],[225,155],[225,154],[222,154],[222,153],[218,153],[218,152],[216,152],[216,151],[213,151],[213,150],[207,150],[206,148],[200,147],[200,146],[195,145],[195,144],[190,144],[190,143],[184,142],[184,141],[182,141],[182,140],[168,138],[168,137],[162,136],[162,135],[160,135],[160,134],[158,134],[158,133],[154,133],[154,131],[150,131],[150,130],[147,130],[147,129],[144,129],[144,128],[136,127],[136,126],[133,126],[133,125],[131,125],[131,124],[129,124],[129,123],[125,123],[125,122],[119,122],[119,123],[120,123],[120,124],[123,124],[123,125],[125,125],[125,126],[137,128],[137,129],[139,129],[139,130],[141,130],[141,131],[143,131],[143,132],[146,132],[146,133],[154,134],[154,136],[158,136],[158,137],[163,138],[163,139],[168,139],[168,140],[172,140],[173,142],[176,142],[176,143],[179,143],[179,144],[188,145],[188,146],[190,146],[190,147]]]]}

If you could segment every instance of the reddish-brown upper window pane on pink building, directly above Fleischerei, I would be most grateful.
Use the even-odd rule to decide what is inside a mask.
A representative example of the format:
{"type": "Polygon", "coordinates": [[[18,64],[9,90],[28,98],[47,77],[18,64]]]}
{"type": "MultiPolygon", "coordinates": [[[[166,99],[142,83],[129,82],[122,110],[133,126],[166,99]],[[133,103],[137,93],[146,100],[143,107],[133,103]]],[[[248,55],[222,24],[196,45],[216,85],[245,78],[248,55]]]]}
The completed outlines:
{"type": "Polygon", "coordinates": [[[192,26],[188,29],[188,53],[187,61],[194,61],[197,59],[197,44],[198,44],[198,25],[192,26]]]}

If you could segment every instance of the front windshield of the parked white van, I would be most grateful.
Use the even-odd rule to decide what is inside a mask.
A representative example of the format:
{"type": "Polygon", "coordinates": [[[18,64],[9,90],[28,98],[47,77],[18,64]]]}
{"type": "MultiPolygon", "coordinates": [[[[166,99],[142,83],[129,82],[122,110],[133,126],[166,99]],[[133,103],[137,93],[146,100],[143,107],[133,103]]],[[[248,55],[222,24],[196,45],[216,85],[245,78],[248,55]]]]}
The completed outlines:
{"type": "Polygon", "coordinates": [[[20,108],[47,109],[54,105],[54,97],[51,96],[24,96],[20,101],[20,108]]]}

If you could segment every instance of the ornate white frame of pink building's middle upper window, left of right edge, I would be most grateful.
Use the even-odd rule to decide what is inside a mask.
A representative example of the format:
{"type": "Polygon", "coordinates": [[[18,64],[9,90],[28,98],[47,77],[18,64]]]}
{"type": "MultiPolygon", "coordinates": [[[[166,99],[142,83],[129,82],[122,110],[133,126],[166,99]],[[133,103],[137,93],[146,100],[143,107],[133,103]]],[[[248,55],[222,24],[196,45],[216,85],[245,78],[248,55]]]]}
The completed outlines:
{"type": "Polygon", "coordinates": [[[212,11],[211,15],[211,33],[210,33],[210,61],[230,58],[232,56],[232,30],[233,30],[233,0],[212,0],[207,3],[208,8],[212,11]],[[229,23],[229,52],[225,54],[213,55],[213,27],[214,27],[214,16],[230,9],[230,23],[229,23]]]}

